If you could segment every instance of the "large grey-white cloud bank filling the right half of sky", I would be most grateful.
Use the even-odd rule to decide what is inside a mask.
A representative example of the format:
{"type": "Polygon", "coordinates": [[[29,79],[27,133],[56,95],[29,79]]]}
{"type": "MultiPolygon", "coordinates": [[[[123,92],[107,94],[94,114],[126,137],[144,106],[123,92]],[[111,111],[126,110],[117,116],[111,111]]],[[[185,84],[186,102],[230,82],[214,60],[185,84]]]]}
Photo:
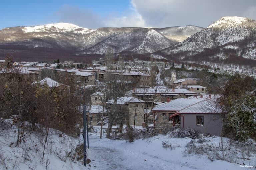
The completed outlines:
{"type": "Polygon", "coordinates": [[[207,27],[223,16],[250,16],[256,19],[255,0],[131,0],[131,4],[142,16],[145,25],[155,27],[207,27]]]}

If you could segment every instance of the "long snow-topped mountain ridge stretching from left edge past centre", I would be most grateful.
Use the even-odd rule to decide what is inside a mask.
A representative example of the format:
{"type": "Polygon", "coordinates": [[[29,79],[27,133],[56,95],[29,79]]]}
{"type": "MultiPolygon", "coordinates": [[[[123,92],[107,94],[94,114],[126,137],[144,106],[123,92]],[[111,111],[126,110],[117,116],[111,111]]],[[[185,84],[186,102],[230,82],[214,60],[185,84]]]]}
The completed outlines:
{"type": "Polygon", "coordinates": [[[108,47],[113,48],[115,53],[149,53],[174,43],[153,29],[136,27],[92,30],[69,23],[56,23],[0,30],[0,45],[54,48],[76,53],[103,54],[108,47]]]}

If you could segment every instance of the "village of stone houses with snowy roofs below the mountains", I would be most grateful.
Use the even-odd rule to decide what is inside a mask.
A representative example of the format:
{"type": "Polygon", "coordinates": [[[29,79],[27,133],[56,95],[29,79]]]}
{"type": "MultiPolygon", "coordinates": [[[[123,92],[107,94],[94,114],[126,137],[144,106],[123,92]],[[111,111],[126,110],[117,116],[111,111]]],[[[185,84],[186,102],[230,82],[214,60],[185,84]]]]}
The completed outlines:
{"type": "MultiPolygon", "coordinates": [[[[4,60],[1,63],[3,65],[4,60]]],[[[177,80],[176,73],[172,72],[171,86],[165,87],[158,84],[160,80],[155,78],[156,75],[152,70],[147,72],[124,70],[116,64],[111,64],[109,68],[100,64],[93,64],[92,67],[85,69],[72,68],[80,64],[64,61],[59,64],[63,67],[61,69],[56,68],[57,64],[13,63],[15,68],[21,69],[21,74],[28,75],[42,86],[46,83],[50,88],[63,88],[70,93],[68,85],[60,82],[66,76],[74,76],[76,86],[91,89],[93,94],[88,98],[89,101],[86,101],[86,112],[90,117],[88,123],[92,126],[101,125],[101,122],[109,124],[107,110],[115,102],[114,107],[122,108],[118,113],[123,119],[121,122],[133,128],[189,127],[201,133],[221,135],[223,115],[216,105],[218,94],[208,94],[206,87],[198,85],[198,78],[177,80]],[[108,98],[107,92],[102,87],[102,82],[109,74],[115,77],[122,76],[122,80],[118,79],[119,84],[125,83],[127,86],[123,89],[123,96],[117,96],[116,101],[108,98]]],[[[5,73],[4,69],[1,73],[5,73]]],[[[120,120],[115,120],[112,124],[116,125],[117,122],[120,120]]]]}

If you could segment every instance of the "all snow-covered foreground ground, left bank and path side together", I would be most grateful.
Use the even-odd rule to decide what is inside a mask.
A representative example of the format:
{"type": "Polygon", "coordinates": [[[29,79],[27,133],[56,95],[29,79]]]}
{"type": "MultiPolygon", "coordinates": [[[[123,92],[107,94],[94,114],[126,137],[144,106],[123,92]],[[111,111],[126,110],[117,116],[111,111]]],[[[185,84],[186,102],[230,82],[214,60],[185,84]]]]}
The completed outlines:
{"type": "MultiPolygon", "coordinates": [[[[89,136],[89,149],[87,149],[87,158],[91,162],[84,167],[81,160],[83,158],[82,147],[79,147],[83,142],[81,135],[73,138],[50,129],[45,159],[42,160],[44,136],[36,132],[24,131],[22,134],[24,138],[16,147],[17,128],[12,126],[7,129],[4,133],[0,133],[1,170],[236,170],[241,169],[240,164],[241,166],[256,166],[255,142],[252,142],[255,147],[254,145],[248,147],[251,151],[241,151],[237,145],[230,145],[227,138],[216,136],[203,139],[173,138],[172,133],[168,133],[137,139],[129,143],[126,140],[105,138],[105,130],[103,130],[103,138],[100,139],[100,128],[95,126],[94,131],[97,129],[98,133],[92,132],[89,136]],[[187,146],[190,146],[189,149],[187,146]],[[201,148],[204,148],[203,152],[198,153],[201,148]],[[232,155],[229,155],[230,153],[232,155]],[[46,164],[49,165],[46,166],[46,164]]],[[[245,167],[245,169],[253,168],[245,167]]]]}

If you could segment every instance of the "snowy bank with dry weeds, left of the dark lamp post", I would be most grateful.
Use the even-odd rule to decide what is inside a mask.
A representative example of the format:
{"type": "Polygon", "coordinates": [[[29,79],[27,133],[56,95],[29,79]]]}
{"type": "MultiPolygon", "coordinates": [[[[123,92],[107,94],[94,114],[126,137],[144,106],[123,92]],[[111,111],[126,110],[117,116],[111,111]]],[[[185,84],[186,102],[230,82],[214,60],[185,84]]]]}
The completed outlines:
{"type": "Polygon", "coordinates": [[[82,144],[81,137],[73,138],[50,129],[42,160],[45,136],[42,133],[21,130],[22,140],[16,147],[18,130],[11,120],[8,122],[6,129],[1,127],[0,132],[0,170],[86,169],[77,161],[76,148],[82,144]]]}

